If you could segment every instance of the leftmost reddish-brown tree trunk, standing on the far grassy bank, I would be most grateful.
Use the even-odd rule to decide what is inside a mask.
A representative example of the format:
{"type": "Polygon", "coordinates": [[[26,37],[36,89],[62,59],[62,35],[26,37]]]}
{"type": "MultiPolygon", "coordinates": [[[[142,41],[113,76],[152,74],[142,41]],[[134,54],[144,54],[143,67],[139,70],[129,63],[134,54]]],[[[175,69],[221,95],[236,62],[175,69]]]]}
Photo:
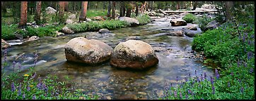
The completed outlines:
{"type": "Polygon", "coordinates": [[[25,28],[27,25],[27,14],[28,14],[28,1],[21,1],[21,20],[19,23],[19,27],[21,29],[25,28]]]}

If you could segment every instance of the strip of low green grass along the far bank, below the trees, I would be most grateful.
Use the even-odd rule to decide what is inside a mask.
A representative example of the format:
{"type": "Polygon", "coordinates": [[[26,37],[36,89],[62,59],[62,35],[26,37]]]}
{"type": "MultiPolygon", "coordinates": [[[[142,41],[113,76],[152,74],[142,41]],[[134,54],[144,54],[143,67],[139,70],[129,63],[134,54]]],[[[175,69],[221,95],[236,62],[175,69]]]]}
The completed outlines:
{"type": "MultiPolygon", "coordinates": [[[[98,11],[97,11],[98,12],[98,11]]],[[[93,13],[93,11],[92,11],[93,13]]],[[[89,13],[90,14],[90,13],[89,13]]],[[[102,15],[104,13],[95,13],[91,14],[90,16],[93,17],[94,15],[102,15]]],[[[150,22],[149,15],[142,15],[141,17],[137,17],[139,20],[140,25],[146,25],[150,22]]],[[[105,21],[95,21],[95,22],[86,22],[86,23],[78,23],[78,24],[71,24],[67,25],[67,27],[74,30],[74,32],[94,32],[98,31],[99,29],[119,29],[121,27],[130,27],[129,23],[120,21],[120,20],[105,20],[105,21]]],[[[11,40],[17,39],[15,34],[21,34],[23,37],[27,36],[56,36],[56,31],[61,31],[64,25],[47,25],[45,27],[30,27],[28,26],[25,30],[18,29],[18,24],[7,25],[2,23],[1,24],[1,38],[4,40],[11,40]]]]}

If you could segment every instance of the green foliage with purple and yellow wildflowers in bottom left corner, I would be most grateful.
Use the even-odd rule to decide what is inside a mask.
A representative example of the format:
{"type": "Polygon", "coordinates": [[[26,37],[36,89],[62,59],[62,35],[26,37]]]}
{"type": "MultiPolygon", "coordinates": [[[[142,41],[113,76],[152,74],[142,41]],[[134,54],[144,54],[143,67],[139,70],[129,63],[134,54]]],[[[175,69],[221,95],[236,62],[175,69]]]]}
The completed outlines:
{"type": "MultiPolygon", "coordinates": [[[[47,74],[45,78],[33,72],[34,67],[30,67],[30,71],[22,74],[21,71],[6,74],[4,67],[6,62],[2,64],[1,69],[1,99],[2,100],[96,100],[98,95],[85,95],[81,90],[69,88],[66,81],[69,77],[65,77],[66,81],[59,81],[57,76],[47,74]],[[4,65],[4,66],[3,66],[4,65]]],[[[74,83],[71,83],[73,85],[74,83]]]]}

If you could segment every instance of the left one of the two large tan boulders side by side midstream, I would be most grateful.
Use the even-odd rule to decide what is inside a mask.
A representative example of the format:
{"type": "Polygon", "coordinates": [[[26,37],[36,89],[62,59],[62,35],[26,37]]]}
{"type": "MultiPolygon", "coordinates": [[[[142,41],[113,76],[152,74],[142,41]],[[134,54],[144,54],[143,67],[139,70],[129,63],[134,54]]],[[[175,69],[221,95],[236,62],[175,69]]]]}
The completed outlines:
{"type": "Polygon", "coordinates": [[[76,37],[65,45],[66,60],[95,65],[110,59],[112,47],[102,41],[76,37]]]}

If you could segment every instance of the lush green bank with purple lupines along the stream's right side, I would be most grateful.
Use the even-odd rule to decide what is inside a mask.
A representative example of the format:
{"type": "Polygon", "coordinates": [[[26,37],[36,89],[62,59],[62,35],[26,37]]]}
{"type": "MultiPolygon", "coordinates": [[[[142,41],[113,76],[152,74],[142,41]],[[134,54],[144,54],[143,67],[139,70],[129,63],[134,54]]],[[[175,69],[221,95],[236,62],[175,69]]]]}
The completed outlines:
{"type": "MultiPolygon", "coordinates": [[[[249,12],[250,13],[250,12],[249,12]]],[[[203,51],[221,67],[215,76],[207,74],[185,79],[178,86],[166,88],[160,99],[175,100],[254,100],[255,99],[255,18],[240,15],[218,29],[196,36],[192,49],[203,51]],[[242,17],[243,16],[243,17],[242,17]]],[[[190,74],[188,74],[190,75],[190,74]]]]}

